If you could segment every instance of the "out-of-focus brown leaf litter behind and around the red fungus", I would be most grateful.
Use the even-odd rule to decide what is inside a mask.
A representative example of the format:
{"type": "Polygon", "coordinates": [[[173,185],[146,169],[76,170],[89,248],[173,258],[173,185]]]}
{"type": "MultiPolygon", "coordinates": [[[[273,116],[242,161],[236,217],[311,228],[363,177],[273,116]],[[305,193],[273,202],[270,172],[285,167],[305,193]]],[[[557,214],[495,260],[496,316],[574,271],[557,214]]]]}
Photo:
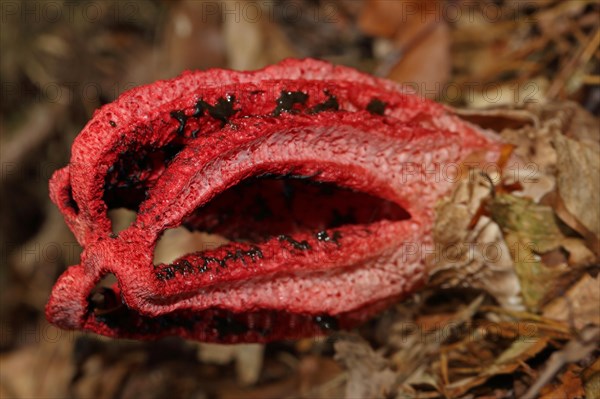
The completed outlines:
{"type": "MultiPolygon", "coordinates": [[[[317,395],[315,387],[327,384],[333,396],[343,391],[327,341],[267,346],[263,367],[255,348],[219,361],[205,348],[204,361],[195,346],[177,340],[109,345],[44,324],[53,282],[79,256],[48,200],[47,182],[101,105],[186,69],[256,69],[286,57],[317,57],[469,110],[570,100],[597,115],[599,10],[597,1],[584,0],[2,1],[0,393],[277,397],[317,395]],[[262,372],[248,376],[244,368],[262,372]],[[253,390],[243,388],[257,381],[253,390]]],[[[504,122],[514,116],[506,115],[504,122]]],[[[466,297],[465,303],[474,299],[466,297]]],[[[353,348],[366,351],[363,362],[385,363],[370,348],[348,345],[338,355],[353,348]]],[[[349,362],[341,361],[352,370],[349,362]]]]}

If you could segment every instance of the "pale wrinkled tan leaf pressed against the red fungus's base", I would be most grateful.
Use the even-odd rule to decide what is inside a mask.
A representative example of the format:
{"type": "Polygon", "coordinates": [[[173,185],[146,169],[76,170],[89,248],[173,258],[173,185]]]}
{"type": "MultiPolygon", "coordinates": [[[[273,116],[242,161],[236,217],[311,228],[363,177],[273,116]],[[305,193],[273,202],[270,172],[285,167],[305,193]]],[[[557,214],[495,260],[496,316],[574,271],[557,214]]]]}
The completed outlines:
{"type": "Polygon", "coordinates": [[[470,226],[492,190],[482,174],[470,175],[438,206],[433,231],[437,251],[428,257],[430,284],[483,289],[502,306],[518,309],[519,280],[500,228],[485,216],[470,226]]]}

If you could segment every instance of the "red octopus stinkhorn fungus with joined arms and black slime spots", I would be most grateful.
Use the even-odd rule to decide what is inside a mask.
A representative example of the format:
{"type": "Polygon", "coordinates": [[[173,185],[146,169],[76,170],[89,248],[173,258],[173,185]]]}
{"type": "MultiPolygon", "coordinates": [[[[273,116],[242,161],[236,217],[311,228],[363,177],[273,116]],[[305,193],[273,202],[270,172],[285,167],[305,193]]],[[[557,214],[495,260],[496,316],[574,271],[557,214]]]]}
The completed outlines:
{"type": "Polygon", "coordinates": [[[84,251],[47,318],[214,342],[350,327],[423,283],[451,185],[431,171],[499,146],[392,82],[310,59],[135,88],[94,114],[50,182],[84,251]],[[119,234],[116,207],[137,211],[119,234]],[[181,225],[232,241],[154,265],[161,234],[181,225]],[[117,284],[95,288],[109,273],[117,284]]]}

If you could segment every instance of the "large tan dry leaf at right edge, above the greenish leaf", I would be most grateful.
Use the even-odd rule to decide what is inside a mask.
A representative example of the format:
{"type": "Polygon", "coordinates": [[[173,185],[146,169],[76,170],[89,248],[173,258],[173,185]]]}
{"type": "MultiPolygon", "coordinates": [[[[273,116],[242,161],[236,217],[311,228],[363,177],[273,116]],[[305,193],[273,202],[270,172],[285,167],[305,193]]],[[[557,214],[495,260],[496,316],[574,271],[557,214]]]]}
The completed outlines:
{"type": "MultiPolygon", "coordinates": [[[[579,203],[579,206],[582,212],[586,209],[585,204],[590,208],[589,212],[584,212],[583,217],[590,221],[597,220],[600,212],[597,206],[599,198],[596,194],[600,190],[598,187],[600,172],[597,165],[600,162],[598,160],[600,152],[594,148],[598,148],[600,133],[598,120],[572,102],[529,104],[524,110],[519,111],[529,114],[534,123],[516,128],[506,127],[501,132],[502,138],[515,145],[516,156],[508,165],[507,174],[518,177],[517,180],[523,186],[523,190],[516,194],[530,197],[535,202],[539,202],[546,196],[544,202],[551,204],[555,213],[565,223],[584,236],[589,236],[589,228],[584,227],[568,210],[570,208],[561,197],[556,196],[554,188],[555,184],[558,184],[560,190],[568,189],[567,194],[572,197],[575,195],[585,197],[584,202],[579,203]],[[559,145],[557,140],[560,142],[559,145]],[[587,158],[579,157],[576,152],[577,147],[588,145],[587,158]],[[569,161],[573,157],[580,159],[576,162],[569,161]],[[585,170],[578,175],[582,167],[585,170]],[[557,172],[560,183],[556,183],[557,172]],[[575,190],[580,190],[579,194],[575,190]],[[588,193],[591,194],[587,195],[588,193]]],[[[577,203],[578,200],[572,199],[572,201],[577,203]]],[[[597,237],[588,237],[587,241],[591,248],[597,248],[597,237]]],[[[596,253],[599,253],[598,250],[596,253]]]]}

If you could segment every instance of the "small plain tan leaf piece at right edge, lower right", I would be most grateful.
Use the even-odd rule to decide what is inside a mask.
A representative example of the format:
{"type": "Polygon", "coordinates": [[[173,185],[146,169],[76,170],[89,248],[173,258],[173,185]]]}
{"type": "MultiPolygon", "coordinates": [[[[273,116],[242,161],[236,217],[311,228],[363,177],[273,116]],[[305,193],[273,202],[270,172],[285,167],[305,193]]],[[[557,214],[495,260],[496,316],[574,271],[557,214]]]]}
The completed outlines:
{"type": "Polygon", "coordinates": [[[584,274],[564,295],[546,305],[543,315],[581,329],[590,323],[600,325],[599,304],[600,277],[584,274]]]}

